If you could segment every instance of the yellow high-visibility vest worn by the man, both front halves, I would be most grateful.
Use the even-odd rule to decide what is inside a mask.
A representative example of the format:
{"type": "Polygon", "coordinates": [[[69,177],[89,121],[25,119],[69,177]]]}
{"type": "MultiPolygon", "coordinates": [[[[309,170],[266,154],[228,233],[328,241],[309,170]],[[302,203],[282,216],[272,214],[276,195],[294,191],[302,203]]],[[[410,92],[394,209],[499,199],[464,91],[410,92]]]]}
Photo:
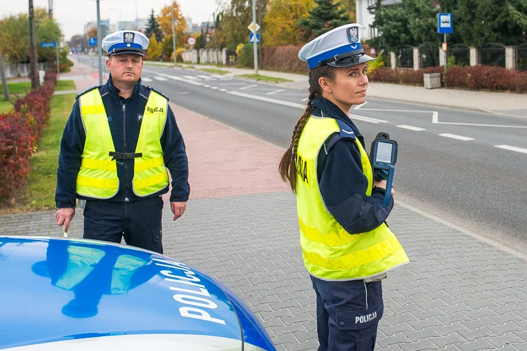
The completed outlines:
{"type": "MultiPolygon", "coordinates": [[[[82,165],[77,175],[77,194],[95,199],[110,199],[119,191],[117,161],[108,116],[99,89],[84,93],[79,98],[86,142],[82,165]]],[[[150,91],[136,145],[134,180],[132,185],[138,197],[159,192],[169,185],[167,168],[164,167],[161,135],[167,119],[168,101],[164,96],[150,91]]]]}

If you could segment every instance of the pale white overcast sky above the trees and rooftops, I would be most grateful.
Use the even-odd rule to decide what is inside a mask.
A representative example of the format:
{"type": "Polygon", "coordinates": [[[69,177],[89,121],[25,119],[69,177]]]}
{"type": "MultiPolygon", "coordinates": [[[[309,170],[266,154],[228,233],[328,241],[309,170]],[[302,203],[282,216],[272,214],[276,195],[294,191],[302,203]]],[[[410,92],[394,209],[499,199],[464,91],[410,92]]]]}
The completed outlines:
{"type": "MultiPolygon", "coordinates": [[[[218,6],[216,0],[178,0],[185,17],[193,23],[212,21],[212,13],[218,6]]],[[[119,20],[148,18],[154,9],[157,14],[171,0],[100,0],[100,18],[110,19],[110,24],[119,20]]],[[[48,8],[48,0],[33,0],[33,6],[48,8]]],[[[0,0],[0,18],[29,12],[28,0],[0,0]]],[[[74,34],[84,32],[86,22],[97,19],[96,0],[53,0],[53,17],[57,20],[66,40],[74,34]]]]}

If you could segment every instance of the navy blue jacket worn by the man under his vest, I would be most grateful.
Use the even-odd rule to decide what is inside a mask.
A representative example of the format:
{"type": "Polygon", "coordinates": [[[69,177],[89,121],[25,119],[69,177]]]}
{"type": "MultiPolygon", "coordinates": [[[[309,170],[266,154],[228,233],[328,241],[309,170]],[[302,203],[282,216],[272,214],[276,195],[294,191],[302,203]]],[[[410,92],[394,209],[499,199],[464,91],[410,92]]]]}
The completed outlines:
{"type": "MultiPolygon", "coordinates": [[[[103,104],[108,116],[108,124],[116,152],[135,152],[139,138],[139,130],[143,113],[145,112],[148,95],[152,88],[142,86],[138,81],[130,98],[119,96],[119,89],[112,84],[112,76],[108,82],[98,88],[103,98],[103,104]]],[[[75,191],[77,174],[82,163],[82,152],[86,141],[86,131],[82,124],[79,109],[79,96],[73,105],[70,118],[67,120],[63,139],[60,143],[58,157],[57,188],[55,201],[57,208],[75,207],[75,199],[89,199],[78,195],[75,191]]],[[[167,98],[168,100],[168,98],[167,98]]],[[[169,169],[172,178],[170,201],[187,201],[190,193],[188,184],[188,159],[183,136],[179,131],[171,108],[167,109],[167,121],[161,136],[164,165],[169,169]]],[[[138,201],[148,197],[165,194],[169,187],[148,197],[138,197],[134,194],[132,179],[134,178],[134,160],[117,160],[117,176],[119,191],[114,197],[105,201],[138,201]]]]}

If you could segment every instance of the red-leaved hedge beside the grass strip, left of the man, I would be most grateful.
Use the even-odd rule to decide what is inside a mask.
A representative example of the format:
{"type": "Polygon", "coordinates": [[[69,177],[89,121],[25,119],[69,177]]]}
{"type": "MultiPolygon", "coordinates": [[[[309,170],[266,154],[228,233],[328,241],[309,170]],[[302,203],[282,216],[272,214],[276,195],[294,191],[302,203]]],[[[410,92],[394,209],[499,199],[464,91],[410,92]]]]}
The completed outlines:
{"type": "Polygon", "coordinates": [[[49,119],[49,102],[57,74],[46,72],[44,84],[15,100],[15,110],[0,115],[0,198],[22,186],[30,174],[30,157],[49,119]]]}

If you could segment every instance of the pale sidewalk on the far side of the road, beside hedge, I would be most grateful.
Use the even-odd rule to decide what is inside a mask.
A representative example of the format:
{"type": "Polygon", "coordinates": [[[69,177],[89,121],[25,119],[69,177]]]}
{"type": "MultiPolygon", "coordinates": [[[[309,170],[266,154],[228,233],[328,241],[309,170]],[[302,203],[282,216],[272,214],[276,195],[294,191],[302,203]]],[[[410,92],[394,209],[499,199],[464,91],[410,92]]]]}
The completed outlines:
{"type": "MultiPolygon", "coordinates": [[[[254,69],[216,67],[212,65],[194,65],[194,67],[223,69],[229,71],[232,76],[254,73],[254,69]]],[[[304,91],[307,91],[309,87],[307,74],[274,72],[266,71],[264,69],[259,69],[259,74],[291,80],[287,83],[276,84],[279,86],[304,91]]],[[[518,117],[527,117],[527,94],[465,91],[448,88],[425,89],[420,86],[372,82],[368,87],[367,96],[369,98],[382,98],[397,100],[399,102],[417,102],[423,105],[437,105],[488,112],[492,111],[503,114],[512,114],[518,117]]]]}

